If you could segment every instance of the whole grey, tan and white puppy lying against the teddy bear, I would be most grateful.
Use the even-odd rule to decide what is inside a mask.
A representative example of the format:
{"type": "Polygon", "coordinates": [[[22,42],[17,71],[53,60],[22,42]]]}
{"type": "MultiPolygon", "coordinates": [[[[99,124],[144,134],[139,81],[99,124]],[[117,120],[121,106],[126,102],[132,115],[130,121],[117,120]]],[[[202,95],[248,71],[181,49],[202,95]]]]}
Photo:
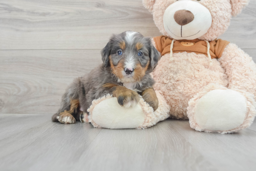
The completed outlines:
{"type": "Polygon", "coordinates": [[[82,111],[87,110],[94,99],[107,94],[117,97],[118,103],[124,107],[136,105],[140,94],[154,110],[158,108],[150,73],[161,54],[150,38],[133,31],[113,35],[101,55],[102,65],[89,75],[76,78],[68,87],[59,111],[52,116],[53,121],[85,122],[82,111]]]}

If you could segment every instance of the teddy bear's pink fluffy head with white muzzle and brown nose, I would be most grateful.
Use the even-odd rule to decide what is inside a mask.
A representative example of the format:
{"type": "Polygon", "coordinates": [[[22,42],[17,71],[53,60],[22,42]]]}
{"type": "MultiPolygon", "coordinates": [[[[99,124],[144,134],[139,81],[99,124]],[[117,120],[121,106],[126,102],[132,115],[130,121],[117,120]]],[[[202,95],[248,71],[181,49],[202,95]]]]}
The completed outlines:
{"type": "Polygon", "coordinates": [[[214,40],[249,0],[143,0],[158,29],[176,40],[214,40]]]}

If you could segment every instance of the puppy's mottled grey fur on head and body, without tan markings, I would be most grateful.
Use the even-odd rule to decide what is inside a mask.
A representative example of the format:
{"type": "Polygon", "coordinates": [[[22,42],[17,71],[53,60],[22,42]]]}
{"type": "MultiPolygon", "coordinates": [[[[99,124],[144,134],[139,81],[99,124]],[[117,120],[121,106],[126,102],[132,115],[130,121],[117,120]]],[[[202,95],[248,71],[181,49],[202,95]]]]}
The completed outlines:
{"type": "MultiPolygon", "coordinates": [[[[69,110],[70,101],[79,99],[79,107],[86,111],[94,99],[98,99],[106,94],[112,94],[112,89],[103,88],[106,83],[112,83],[119,86],[124,86],[124,83],[117,79],[117,77],[111,73],[109,56],[113,60],[113,64],[117,65],[122,58],[132,57],[133,62],[140,63],[142,67],[145,67],[148,61],[150,61],[150,67],[146,70],[145,76],[140,78],[140,82],[136,84],[136,91],[141,93],[146,88],[153,87],[154,80],[151,78],[150,73],[156,66],[160,53],[154,48],[151,43],[151,39],[143,37],[140,33],[135,33],[132,36],[131,41],[126,40],[127,32],[123,32],[119,35],[113,35],[106,47],[102,50],[103,64],[94,68],[88,75],[76,78],[73,83],[67,88],[65,94],[62,97],[60,109],[56,114],[52,116],[53,121],[58,121],[57,116],[65,110],[69,110]],[[122,56],[117,55],[117,51],[120,50],[120,42],[125,41],[126,49],[123,51],[122,56]],[[143,44],[141,52],[142,56],[138,56],[138,50],[135,48],[137,42],[143,44]]],[[[131,31],[129,31],[131,33],[131,31]]],[[[74,113],[73,116],[76,120],[79,120],[80,116],[76,116],[78,113],[74,113]]]]}

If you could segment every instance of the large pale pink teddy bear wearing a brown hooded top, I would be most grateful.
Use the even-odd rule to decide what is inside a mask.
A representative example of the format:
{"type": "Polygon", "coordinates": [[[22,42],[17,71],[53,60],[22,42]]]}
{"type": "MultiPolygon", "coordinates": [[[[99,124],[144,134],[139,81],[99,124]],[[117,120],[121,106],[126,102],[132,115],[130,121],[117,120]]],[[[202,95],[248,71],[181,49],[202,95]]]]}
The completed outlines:
{"type": "Polygon", "coordinates": [[[235,44],[218,39],[249,0],[143,0],[163,36],[152,73],[159,106],[141,98],[130,108],[107,95],[94,100],[85,122],[110,129],[148,128],[166,118],[189,119],[196,131],[231,133],[256,115],[256,64],[235,44]]]}

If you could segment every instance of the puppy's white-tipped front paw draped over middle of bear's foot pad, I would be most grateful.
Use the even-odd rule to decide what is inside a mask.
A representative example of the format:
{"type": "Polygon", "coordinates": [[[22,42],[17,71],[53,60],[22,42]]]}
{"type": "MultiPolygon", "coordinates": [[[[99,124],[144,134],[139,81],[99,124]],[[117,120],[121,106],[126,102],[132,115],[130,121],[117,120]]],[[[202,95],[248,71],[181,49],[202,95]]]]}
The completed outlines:
{"type": "Polygon", "coordinates": [[[140,100],[138,93],[121,86],[114,91],[113,96],[117,97],[119,105],[124,107],[135,106],[140,100]]]}

